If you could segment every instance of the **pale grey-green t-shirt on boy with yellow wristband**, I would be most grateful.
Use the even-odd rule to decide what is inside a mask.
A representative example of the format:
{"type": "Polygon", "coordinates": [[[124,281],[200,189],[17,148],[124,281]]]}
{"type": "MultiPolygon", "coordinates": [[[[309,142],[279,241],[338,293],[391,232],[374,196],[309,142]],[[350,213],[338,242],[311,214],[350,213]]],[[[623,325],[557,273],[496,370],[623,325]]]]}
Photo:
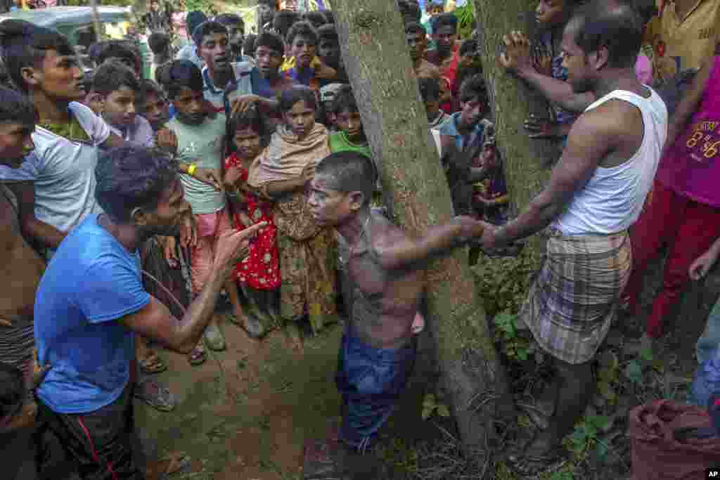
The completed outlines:
{"type": "MultiPolygon", "coordinates": [[[[200,168],[212,168],[222,173],[222,138],[225,136],[225,115],[207,118],[202,124],[188,125],[177,117],[167,127],[178,137],[178,160],[195,163],[200,168]]],[[[181,175],[185,198],[195,214],[215,213],[225,207],[225,194],[197,178],[181,175]]]]}

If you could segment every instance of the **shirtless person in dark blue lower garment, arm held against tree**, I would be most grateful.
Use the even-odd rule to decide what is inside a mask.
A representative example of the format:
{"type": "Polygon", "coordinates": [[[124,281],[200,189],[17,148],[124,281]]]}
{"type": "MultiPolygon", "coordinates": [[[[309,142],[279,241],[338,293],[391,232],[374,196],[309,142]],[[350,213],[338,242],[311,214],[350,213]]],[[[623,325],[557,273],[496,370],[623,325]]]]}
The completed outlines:
{"type": "Polygon", "coordinates": [[[310,184],[312,215],[349,245],[352,299],[336,381],[343,394],[341,440],[364,452],[390,417],[415,360],[413,319],[423,294],[425,261],[482,235],[480,222],[455,217],[410,237],[371,212],[377,173],[365,155],[345,151],[318,164],[310,184]]]}

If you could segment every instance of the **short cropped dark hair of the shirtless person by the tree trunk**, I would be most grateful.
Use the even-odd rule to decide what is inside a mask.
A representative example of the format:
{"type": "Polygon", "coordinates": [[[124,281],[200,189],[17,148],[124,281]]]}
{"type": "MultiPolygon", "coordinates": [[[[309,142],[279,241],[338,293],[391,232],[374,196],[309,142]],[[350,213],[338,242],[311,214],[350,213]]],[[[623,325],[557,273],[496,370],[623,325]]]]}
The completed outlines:
{"type": "Polygon", "coordinates": [[[330,189],[348,193],[360,191],[364,196],[364,205],[370,203],[377,185],[377,169],[372,160],[362,153],[349,150],[331,153],[320,160],[315,167],[315,175],[329,176],[330,189]]]}

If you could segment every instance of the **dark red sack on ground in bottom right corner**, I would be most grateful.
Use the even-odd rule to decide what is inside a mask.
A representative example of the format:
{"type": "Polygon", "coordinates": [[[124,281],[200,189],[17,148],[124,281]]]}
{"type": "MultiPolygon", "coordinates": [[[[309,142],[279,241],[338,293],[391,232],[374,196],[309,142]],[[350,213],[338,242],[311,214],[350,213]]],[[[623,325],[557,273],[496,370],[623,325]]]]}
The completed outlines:
{"type": "Polygon", "coordinates": [[[632,409],[632,479],[705,479],[707,468],[720,466],[720,438],[676,438],[685,429],[703,427],[711,427],[710,415],[693,405],[657,400],[632,409]]]}

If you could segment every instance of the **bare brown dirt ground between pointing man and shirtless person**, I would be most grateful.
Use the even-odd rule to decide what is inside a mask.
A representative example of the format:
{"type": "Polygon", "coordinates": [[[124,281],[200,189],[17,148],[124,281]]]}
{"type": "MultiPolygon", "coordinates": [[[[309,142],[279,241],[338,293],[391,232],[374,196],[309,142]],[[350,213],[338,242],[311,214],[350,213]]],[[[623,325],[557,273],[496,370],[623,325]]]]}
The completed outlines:
{"type": "Polygon", "coordinates": [[[192,473],[177,479],[300,479],[306,438],[322,438],[337,417],[334,384],[342,327],[307,338],[302,351],[283,332],[256,341],[223,318],[228,345],[198,367],[161,350],[166,372],[156,376],[178,400],[163,413],[136,403],[138,432],[148,454],[148,479],[168,455],[192,458],[192,473]]]}

